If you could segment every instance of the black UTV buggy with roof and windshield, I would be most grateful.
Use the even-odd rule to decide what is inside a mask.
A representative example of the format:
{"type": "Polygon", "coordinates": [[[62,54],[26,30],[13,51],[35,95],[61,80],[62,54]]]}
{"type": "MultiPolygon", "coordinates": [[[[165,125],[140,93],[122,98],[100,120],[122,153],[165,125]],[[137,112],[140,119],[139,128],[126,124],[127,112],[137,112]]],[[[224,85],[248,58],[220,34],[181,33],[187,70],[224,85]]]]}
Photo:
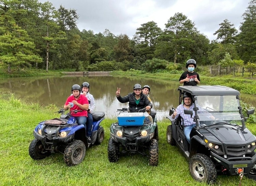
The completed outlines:
{"type": "Polygon", "coordinates": [[[172,108],[167,117],[172,124],[167,127],[166,139],[187,158],[192,177],[213,183],[217,173],[226,173],[240,175],[241,179],[244,174],[256,180],[256,137],[245,126],[254,109],[247,111],[247,117],[243,116],[240,93],[224,86],[180,86],[178,91],[180,104],[184,93],[192,95],[195,107],[184,113],[193,117],[196,126],[191,130],[189,144],[183,119],[179,116],[173,120],[171,114],[175,108],[172,108]]]}

